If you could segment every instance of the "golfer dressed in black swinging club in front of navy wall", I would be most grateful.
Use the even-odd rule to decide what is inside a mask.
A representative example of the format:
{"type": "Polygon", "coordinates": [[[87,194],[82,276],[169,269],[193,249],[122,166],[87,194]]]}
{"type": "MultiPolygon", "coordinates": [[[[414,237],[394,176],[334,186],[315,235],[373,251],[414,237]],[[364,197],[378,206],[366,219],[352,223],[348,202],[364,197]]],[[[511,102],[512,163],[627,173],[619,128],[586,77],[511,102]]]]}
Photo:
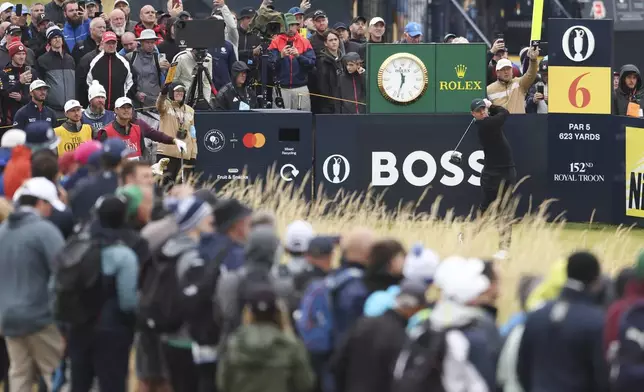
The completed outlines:
{"type": "MultiPolygon", "coordinates": [[[[481,189],[483,202],[481,212],[487,211],[497,196],[505,194],[506,190],[517,182],[517,171],[512,158],[510,143],[503,133],[503,124],[510,112],[501,106],[492,105],[487,99],[477,98],[470,105],[472,116],[478,127],[479,142],[485,153],[485,163],[481,172],[481,189]],[[503,187],[503,189],[501,189],[503,187]],[[501,191],[499,193],[499,190],[501,191]]],[[[505,258],[510,248],[511,228],[503,225],[500,228],[500,253],[505,258]]]]}

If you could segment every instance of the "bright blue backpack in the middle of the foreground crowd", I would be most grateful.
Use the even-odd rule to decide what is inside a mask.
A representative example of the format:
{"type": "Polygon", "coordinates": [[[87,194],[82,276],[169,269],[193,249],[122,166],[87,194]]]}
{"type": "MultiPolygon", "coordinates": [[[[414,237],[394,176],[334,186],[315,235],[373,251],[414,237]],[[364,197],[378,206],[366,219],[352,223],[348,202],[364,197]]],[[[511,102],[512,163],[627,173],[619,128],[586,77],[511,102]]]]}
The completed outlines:
{"type": "Polygon", "coordinates": [[[295,317],[295,329],[309,352],[322,354],[333,350],[335,294],[362,275],[357,268],[347,268],[336,276],[317,279],[309,284],[295,317]]]}

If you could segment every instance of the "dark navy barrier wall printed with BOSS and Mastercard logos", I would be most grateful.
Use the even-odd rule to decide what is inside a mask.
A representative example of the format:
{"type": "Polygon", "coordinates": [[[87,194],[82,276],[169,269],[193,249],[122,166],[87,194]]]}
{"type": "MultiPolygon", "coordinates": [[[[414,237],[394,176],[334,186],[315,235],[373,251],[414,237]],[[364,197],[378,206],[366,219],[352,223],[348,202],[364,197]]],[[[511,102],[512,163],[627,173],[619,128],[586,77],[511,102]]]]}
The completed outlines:
{"type": "MultiPolygon", "coordinates": [[[[314,170],[312,186],[307,187],[311,192],[320,186],[329,195],[340,189],[365,192],[372,185],[378,192],[386,190],[384,201],[396,208],[400,202],[415,203],[427,191],[419,211],[429,211],[441,196],[441,214],[453,208],[465,215],[481,200],[483,151],[476,126],[459,147],[463,163],[455,166],[449,156],[470,121],[468,115],[313,118],[310,113],[288,111],[198,113],[197,169],[206,177],[225,177],[225,182],[235,178],[230,169],[241,172],[247,167],[252,180],[264,177],[276,163],[278,171],[285,168],[285,178],[278,178],[298,184],[304,173],[314,170]],[[265,138],[261,147],[256,147],[261,137],[260,142],[253,137],[257,133],[265,138]],[[298,175],[293,175],[293,168],[298,175]]],[[[565,213],[576,222],[592,217],[597,222],[640,225],[642,218],[626,215],[626,126],[644,128],[644,120],[510,116],[505,133],[519,178],[528,176],[518,188],[519,214],[556,199],[551,216],[565,213]]]]}

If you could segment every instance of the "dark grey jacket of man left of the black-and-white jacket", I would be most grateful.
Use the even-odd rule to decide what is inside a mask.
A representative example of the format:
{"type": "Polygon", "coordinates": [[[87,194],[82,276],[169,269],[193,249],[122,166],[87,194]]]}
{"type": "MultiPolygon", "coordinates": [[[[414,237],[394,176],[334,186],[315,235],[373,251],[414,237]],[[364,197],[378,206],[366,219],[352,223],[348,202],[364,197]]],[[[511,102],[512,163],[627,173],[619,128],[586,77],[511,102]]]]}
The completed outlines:
{"type": "Polygon", "coordinates": [[[65,103],[76,97],[76,64],[71,55],[50,50],[38,58],[38,70],[49,86],[46,104],[62,112],[65,103]]]}

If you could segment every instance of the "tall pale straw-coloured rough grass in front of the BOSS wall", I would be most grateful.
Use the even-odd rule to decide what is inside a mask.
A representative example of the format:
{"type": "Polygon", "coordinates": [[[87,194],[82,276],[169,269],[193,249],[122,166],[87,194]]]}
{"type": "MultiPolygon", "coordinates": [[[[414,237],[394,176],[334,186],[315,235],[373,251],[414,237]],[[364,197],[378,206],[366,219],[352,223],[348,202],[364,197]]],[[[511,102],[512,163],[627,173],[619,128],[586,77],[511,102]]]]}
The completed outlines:
{"type": "MultiPolygon", "coordinates": [[[[440,218],[437,216],[440,199],[434,202],[429,213],[416,213],[413,203],[391,211],[382,202],[382,193],[379,196],[374,189],[363,194],[341,191],[332,197],[307,202],[303,187],[281,181],[271,169],[265,179],[229,183],[221,189],[215,184],[215,188],[221,196],[238,198],[254,209],[274,211],[281,233],[295,219],[308,220],[317,232],[328,234],[342,234],[352,227],[366,226],[407,246],[422,242],[441,257],[460,254],[490,258],[498,251],[497,228],[508,224],[507,217],[514,215],[518,203],[508,193],[487,216],[472,213],[458,218],[448,213],[440,218]],[[460,231],[465,233],[463,244],[457,240],[460,231]]],[[[589,249],[600,258],[605,271],[613,275],[632,264],[641,248],[643,230],[593,224],[592,217],[587,224],[569,224],[560,217],[549,216],[548,205],[545,202],[535,206],[525,216],[512,220],[510,258],[498,263],[502,283],[498,303],[501,320],[517,309],[516,287],[523,274],[545,274],[552,263],[572,251],[589,249]]]]}

